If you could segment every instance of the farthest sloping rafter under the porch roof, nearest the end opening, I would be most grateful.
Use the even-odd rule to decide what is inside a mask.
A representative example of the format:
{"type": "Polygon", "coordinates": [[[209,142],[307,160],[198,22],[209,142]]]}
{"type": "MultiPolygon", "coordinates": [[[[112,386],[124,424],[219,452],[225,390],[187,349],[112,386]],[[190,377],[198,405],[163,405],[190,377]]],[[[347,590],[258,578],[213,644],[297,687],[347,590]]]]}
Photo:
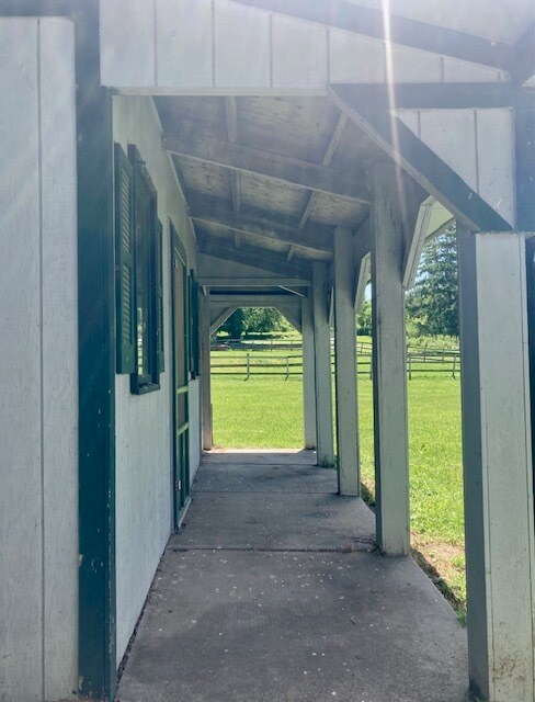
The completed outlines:
{"type": "Polygon", "coordinates": [[[280,276],[311,280],[309,264],[287,263],[276,253],[270,253],[266,249],[242,244],[239,249],[226,246],[219,237],[210,236],[205,231],[198,233],[198,251],[214,258],[226,261],[235,261],[243,265],[252,265],[264,271],[272,271],[280,276]]]}

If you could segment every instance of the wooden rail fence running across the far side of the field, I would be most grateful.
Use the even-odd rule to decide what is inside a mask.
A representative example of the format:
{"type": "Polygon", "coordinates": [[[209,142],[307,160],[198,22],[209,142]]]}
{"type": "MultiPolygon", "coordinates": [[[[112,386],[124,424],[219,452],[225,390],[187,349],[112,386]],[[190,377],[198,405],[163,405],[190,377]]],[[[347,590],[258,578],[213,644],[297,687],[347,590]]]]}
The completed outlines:
{"type": "MultiPolygon", "coordinates": [[[[357,373],[373,377],[372,344],[358,342],[357,373]]],[[[331,353],[331,362],[334,355],[331,353]]],[[[213,349],[212,373],[214,375],[303,375],[303,355],[265,353],[257,348],[246,354],[225,353],[225,350],[213,349]]],[[[451,349],[419,349],[407,353],[407,375],[412,380],[416,374],[445,373],[456,378],[460,373],[459,352],[451,349]]]]}

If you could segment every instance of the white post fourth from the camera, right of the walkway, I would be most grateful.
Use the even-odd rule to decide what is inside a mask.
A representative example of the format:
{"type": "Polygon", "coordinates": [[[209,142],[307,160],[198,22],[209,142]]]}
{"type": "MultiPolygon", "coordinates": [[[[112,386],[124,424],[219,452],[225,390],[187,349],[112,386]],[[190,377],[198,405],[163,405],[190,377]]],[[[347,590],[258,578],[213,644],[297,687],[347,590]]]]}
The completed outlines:
{"type": "Polygon", "coordinates": [[[327,295],[327,267],[315,261],[314,348],[316,369],[316,439],[318,465],[334,465],[332,437],[331,332],[327,295]]]}

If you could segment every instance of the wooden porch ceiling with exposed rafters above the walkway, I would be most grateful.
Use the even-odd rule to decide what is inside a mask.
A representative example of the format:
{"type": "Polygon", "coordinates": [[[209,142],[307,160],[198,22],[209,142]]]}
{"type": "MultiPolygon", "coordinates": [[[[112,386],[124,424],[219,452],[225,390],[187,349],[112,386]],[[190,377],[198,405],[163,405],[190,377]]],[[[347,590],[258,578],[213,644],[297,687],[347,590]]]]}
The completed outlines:
{"type": "Polygon", "coordinates": [[[202,252],[330,261],[334,227],[356,230],[368,216],[368,171],[388,157],[328,98],[156,104],[202,252]]]}

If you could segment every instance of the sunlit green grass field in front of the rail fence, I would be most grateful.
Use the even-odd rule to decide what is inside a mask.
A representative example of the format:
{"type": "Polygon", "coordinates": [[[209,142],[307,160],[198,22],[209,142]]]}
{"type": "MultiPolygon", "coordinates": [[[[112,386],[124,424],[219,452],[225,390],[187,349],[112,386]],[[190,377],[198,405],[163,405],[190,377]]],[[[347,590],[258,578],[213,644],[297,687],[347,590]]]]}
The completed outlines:
{"type": "MultiPolygon", "coordinates": [[[[459,381],[419,375],[408,383],[412,546],[463,611],[466,601],[459,381]]],[[[213,377],[214,442],[246,449],[303,445],[301,378],[213,377]],[[262,401],[259,401],[262,400],[262,401]]],[[[373,496],[372,382],[358,376],[363,482],[373,496]]]]}

